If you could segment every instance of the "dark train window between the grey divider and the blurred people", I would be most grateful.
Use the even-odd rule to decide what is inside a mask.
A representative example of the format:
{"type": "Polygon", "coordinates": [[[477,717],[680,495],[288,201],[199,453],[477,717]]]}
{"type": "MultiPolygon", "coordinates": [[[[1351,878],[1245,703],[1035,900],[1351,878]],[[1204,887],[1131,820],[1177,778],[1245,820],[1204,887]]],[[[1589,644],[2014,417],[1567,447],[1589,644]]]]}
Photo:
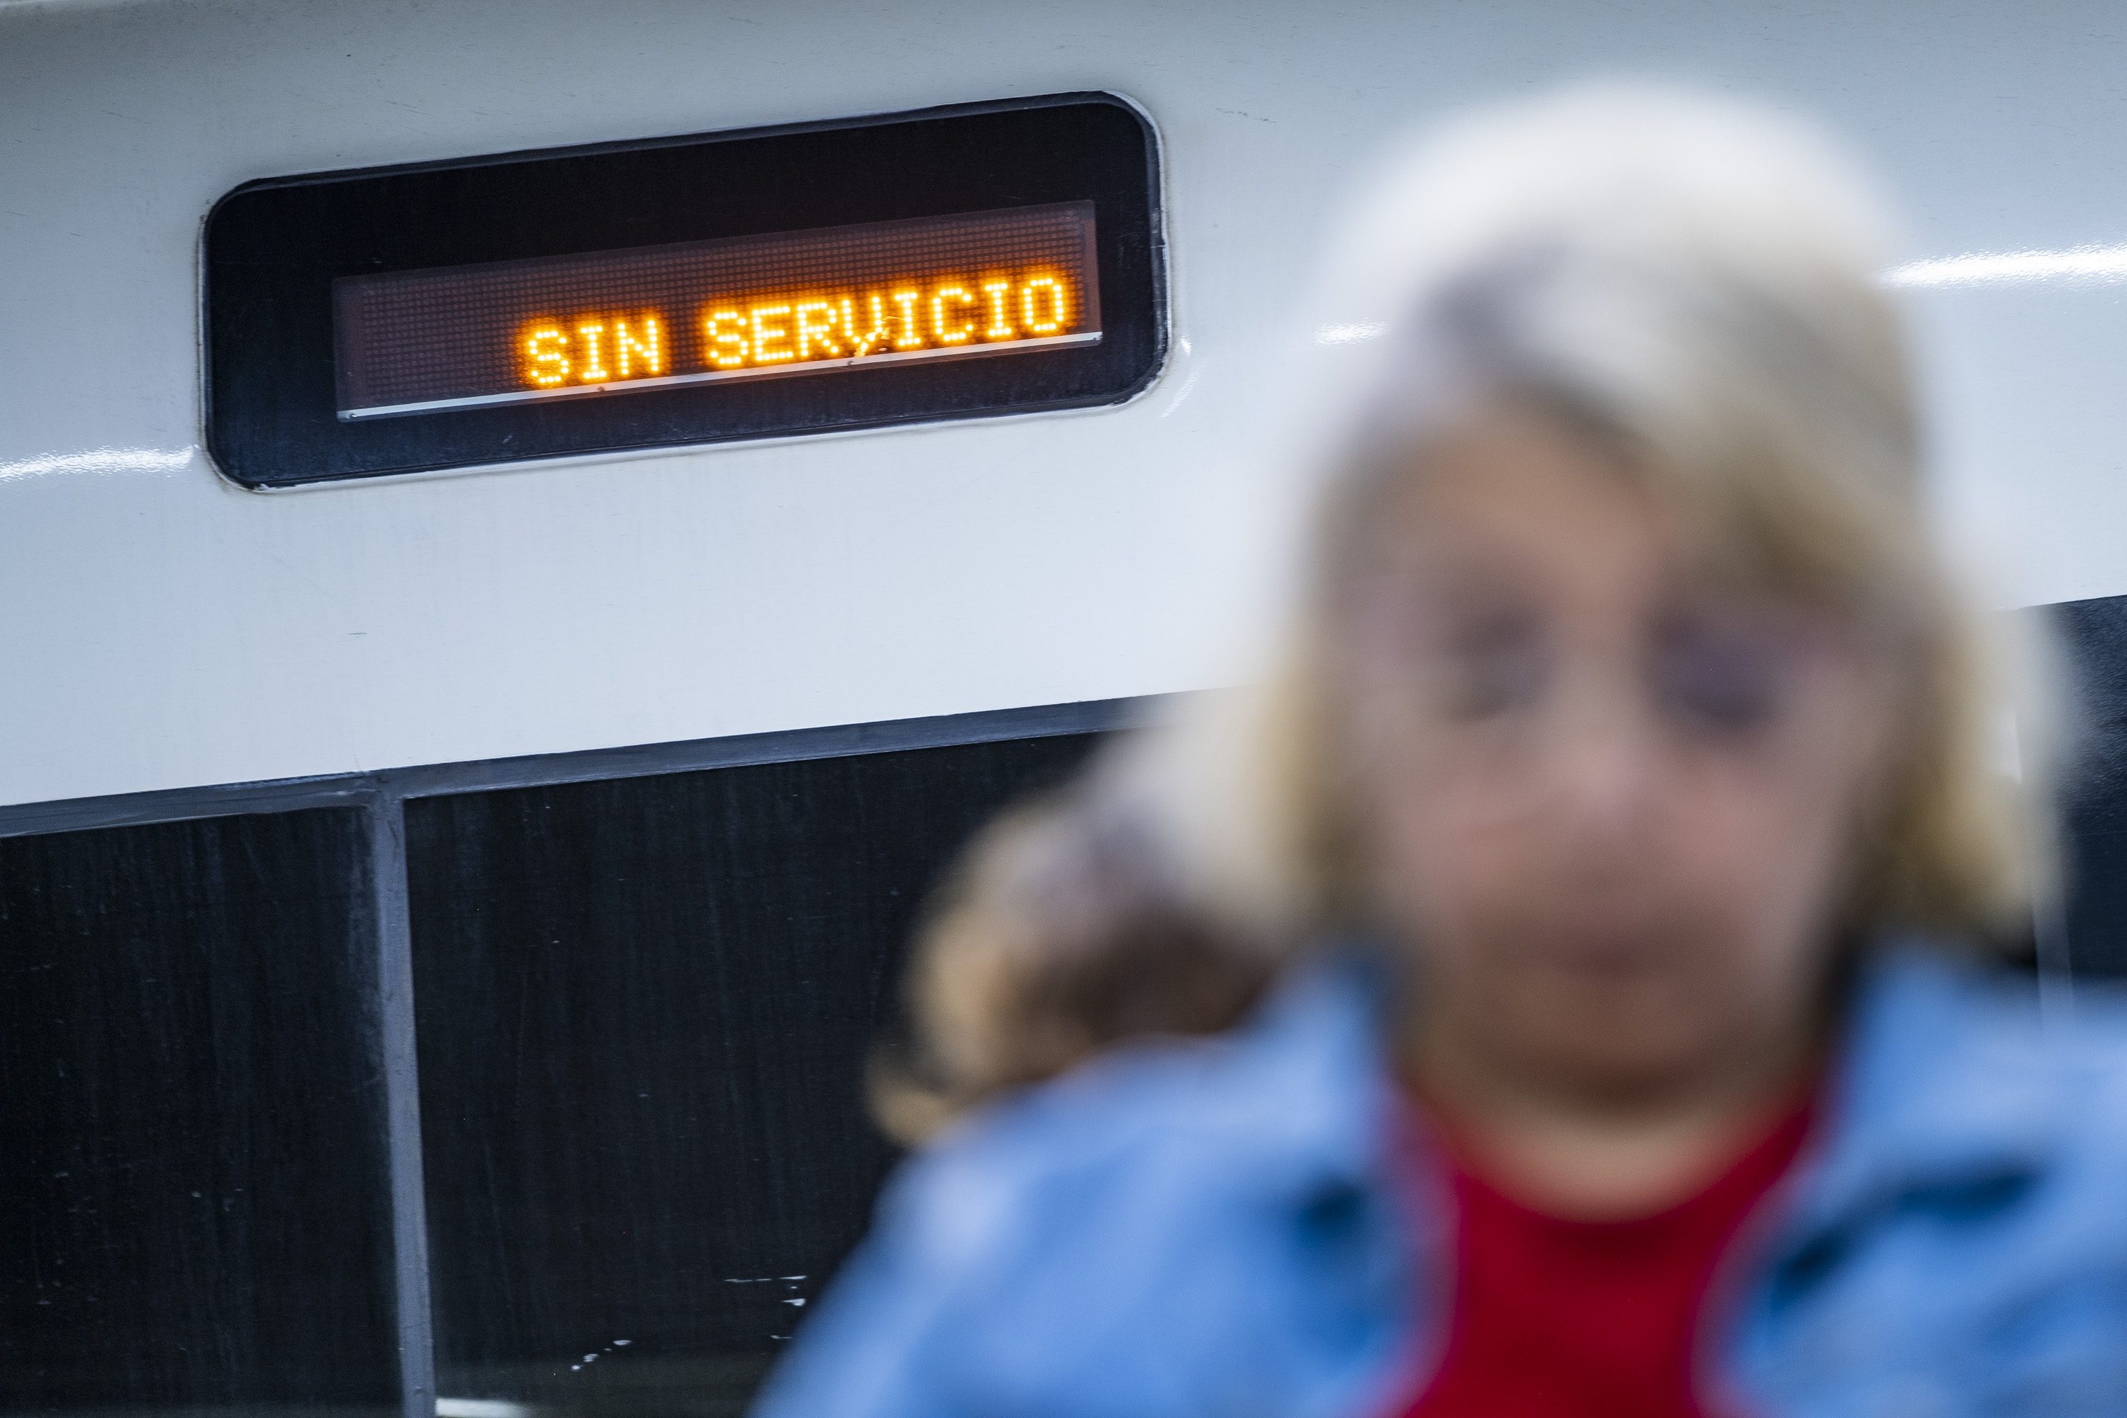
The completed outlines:
{"type": "Polygon", "coordinates": [[[925,891],[1089,742],[408,804],[447,1416],[744,1403],[891,1163],[861,1074],[925,891]]]}

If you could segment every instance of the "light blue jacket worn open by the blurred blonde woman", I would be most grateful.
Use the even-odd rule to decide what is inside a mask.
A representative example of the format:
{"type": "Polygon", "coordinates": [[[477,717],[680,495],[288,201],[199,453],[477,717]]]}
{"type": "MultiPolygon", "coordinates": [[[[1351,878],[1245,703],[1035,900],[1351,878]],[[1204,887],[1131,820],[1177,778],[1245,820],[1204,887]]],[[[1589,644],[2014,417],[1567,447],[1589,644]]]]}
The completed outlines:
{"type": "MultiPolygon", "coordinates": [[[[1453,1220],[1397,1163],[1372,972],[1121,1050],[889,1186],[757,1418],[1380,1418],[1453,1220]]],[[[1406,1152],[1408,1159],[1408,1152],[1406,1152]]],[[[2127,1414],[2127,1029],[1872,957],[1802,1161],[1746,1225],[1702,1399],[1795,1418],[2127,1414]]]]}

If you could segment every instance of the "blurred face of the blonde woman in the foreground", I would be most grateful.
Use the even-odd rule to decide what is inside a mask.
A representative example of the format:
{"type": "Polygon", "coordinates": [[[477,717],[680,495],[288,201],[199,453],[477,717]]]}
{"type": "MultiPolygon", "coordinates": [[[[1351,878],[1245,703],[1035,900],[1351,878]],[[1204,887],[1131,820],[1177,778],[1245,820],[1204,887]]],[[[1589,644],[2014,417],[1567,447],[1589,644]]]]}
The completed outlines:
{"type": "Polygon", "coordinates": [[[1436,1042],[1619,1097],[1799,1046],[1887,778],[1882,655],[1734,589],[1534,415],[1440,442],[1363,540],[1338,748],[1436,1042]]]}

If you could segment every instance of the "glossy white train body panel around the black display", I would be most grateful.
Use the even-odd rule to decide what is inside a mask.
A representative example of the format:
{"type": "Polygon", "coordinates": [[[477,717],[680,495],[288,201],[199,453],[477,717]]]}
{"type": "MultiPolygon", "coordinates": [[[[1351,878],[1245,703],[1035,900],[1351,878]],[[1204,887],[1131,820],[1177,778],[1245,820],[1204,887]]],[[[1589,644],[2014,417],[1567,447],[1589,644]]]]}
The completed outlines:
{"type": "MultiPolygon", "coordinates": [[[[2127,240],[2116,4],[0,4],[0,801],[1185,689],[1249,389],[1389,130],[1551,79],[1825,115],[1916,257],[2127,240]],[[253,176],[1115,89],[1176,355],[1121,410],[255,495],[198,444],[196,244],[253,176]]],[[[2127,591],[2121,274],[1916,287],[2002,595],[2127,591]]]]}

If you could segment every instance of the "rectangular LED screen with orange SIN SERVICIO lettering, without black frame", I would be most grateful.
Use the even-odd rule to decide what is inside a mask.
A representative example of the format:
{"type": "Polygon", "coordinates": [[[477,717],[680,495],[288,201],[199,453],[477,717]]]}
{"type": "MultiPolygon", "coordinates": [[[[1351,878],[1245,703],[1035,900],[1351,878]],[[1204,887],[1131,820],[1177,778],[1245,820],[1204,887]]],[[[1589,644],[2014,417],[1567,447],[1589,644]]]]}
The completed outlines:
{"type": "Polygon", "coordinates": [[[340,419],[1100,342],[1093,204],[334,283],[340,419]]]}

